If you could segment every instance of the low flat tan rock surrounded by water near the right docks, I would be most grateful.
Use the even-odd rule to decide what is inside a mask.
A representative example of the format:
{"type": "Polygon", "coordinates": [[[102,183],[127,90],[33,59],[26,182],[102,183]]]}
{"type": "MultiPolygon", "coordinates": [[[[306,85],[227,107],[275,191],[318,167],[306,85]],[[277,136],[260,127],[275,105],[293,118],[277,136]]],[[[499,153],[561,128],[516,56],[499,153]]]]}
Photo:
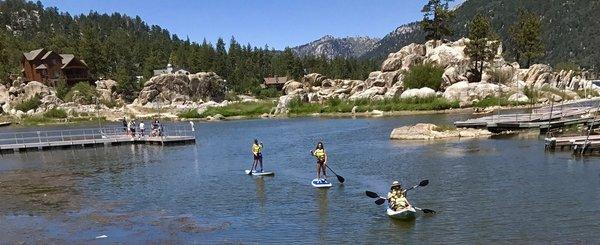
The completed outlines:
{"type": "Polygon", "coordinates": [[[396,140],[435,140],[457,137],[488,137],[491,136],[487,130],[459,128],[453,130],[441,130],[438,126],[428,123],[419,123],[413,126],[395,128],[390,134],[390,139],[396,140]]]}

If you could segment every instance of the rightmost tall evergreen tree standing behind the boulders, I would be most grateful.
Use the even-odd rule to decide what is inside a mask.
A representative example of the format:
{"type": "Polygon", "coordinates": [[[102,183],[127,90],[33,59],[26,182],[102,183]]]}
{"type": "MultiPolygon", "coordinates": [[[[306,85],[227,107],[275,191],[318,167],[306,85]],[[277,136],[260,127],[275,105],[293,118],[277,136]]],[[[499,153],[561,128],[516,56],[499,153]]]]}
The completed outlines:
{"type": "Polygon", "coordinates": [[[509,32],[517,62],[522,64],[525,61],[525,68],[529,68],[533,59],[544,55],[545,47],[541,39],[542,21],[539,16],[521,10],[519,18],[510,27],[509,32]]]}

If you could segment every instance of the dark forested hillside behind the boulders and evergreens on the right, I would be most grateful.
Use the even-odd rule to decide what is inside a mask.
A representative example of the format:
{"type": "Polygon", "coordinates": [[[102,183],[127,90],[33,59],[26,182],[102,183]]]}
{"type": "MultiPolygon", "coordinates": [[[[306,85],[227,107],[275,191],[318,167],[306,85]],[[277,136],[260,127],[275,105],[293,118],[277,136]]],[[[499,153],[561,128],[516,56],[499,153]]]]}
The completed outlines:
{"type": "MultiPolygon", "coordinates": [[[[517,19],[519,9],[532,11],[542,17],[542,40],[547,53],[537,62],[551,65],[573,62],[587,68],[600,67],[600,40],[595,38],[600,29],[597,16],[600,12],[599,0],[468,0],[456,9],[452,24],[456,33],[451,39],[466,36],[467,23],[475,14],[485,13],[502,38],[507,59],[511,60],[508,29],[517,19]]],[[[361,57],[382,61],[388,53],[398,51],[412,42],[424,42],[424,34],[414,23],[402,25],[361,57]]]]}

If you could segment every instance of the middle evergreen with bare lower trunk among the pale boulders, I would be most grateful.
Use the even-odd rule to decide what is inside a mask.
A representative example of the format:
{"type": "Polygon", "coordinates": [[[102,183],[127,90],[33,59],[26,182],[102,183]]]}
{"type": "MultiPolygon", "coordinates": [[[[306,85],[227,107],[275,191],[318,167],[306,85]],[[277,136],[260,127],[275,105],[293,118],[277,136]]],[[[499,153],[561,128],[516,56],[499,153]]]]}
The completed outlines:
{"type": "Polygon", "coordinates": [[[479,82],[485,63],[494,59],[500,42],[492,30],[490,20],[481,14],[475,16],[468,28],[470,42],[465,47],[465,54],[473,63],[472,71],[475,77],[472,82],[479,82]]]}

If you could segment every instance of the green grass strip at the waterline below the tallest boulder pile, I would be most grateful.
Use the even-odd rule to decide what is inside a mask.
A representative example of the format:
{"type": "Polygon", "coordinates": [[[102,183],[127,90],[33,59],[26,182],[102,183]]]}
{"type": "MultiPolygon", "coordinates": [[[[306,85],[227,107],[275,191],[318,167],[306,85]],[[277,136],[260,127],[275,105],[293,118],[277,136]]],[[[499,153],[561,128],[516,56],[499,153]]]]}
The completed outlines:
{"type": "Polygon", "coordinates": [[[356,112],[380,111],[428,111],[458,108],[457,101],[448,101],[444,98],[424,99],[386,99],[372,100],[340,100],[330,99],[322,104],[305,103],[293,100],[288,105],[290,114],[306,115],[312,113],[348,113],[356,106],[356,112]]]}

